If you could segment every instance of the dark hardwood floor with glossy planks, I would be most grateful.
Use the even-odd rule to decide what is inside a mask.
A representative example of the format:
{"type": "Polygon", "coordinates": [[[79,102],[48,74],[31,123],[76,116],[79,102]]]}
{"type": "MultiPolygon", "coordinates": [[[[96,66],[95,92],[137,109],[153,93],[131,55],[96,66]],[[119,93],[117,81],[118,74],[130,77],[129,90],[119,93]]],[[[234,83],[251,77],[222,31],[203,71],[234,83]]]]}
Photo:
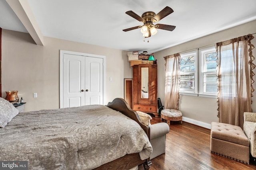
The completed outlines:
{"type": "MultiPolygon", "coordinates": [[[[152,116],[151,124],[161,122],[152,116]]],[[[256,163],[244,164],[210,152],[210,129],[187,122],[171,122],[166,135],[166,153],[152,161],[150,170],[256,170],[256,163]]],[[[139,166],[139,170],[143,170],[139,166]]]]}

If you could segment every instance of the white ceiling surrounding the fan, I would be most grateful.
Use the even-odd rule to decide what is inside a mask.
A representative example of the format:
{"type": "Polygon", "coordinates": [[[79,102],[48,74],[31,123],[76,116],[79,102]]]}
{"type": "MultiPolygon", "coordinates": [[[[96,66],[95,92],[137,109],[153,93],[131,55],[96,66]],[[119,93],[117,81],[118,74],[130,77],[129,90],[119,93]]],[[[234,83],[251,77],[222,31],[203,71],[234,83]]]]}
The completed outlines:
{"type": "MultiPolygon", "coordinates": [[[[46,37],[66,39],[126,51],[153,53],[192,39],[256,20],[256,0],[28,0],[46,37]],[[143,41],[142,25],[125,14],[132,10],[156,14],[164,7],[174,12],[157,23],[175,25],[158,29],[143,41]]],[[[0,27],[28,32],[5,0],[0,0],[0,27]]]]}

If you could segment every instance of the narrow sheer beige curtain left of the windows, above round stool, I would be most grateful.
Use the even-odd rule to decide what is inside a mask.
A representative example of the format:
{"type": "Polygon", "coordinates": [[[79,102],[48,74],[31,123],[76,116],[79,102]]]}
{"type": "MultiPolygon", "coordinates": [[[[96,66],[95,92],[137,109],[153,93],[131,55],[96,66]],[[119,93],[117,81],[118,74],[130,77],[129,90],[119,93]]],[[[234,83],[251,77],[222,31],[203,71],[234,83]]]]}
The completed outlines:
{"type": "Polygon", "coordinates": [[[165,59],[164,108],[179,109],[180,53],[168,55],[165,59]]]}

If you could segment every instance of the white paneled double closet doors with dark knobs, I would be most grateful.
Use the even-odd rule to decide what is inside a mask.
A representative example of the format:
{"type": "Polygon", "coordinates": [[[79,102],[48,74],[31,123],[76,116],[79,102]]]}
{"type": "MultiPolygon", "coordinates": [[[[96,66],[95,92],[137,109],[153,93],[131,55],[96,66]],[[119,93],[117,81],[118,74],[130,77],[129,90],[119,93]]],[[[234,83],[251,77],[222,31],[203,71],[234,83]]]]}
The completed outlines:
{"type": "Polygon", "coordinates": [[[62,96],[63,105],[60,104],[60,108],[103,105],[103,60],[63,53],[63,84],[60,80],[60,89],[63,88],[60,98],[62,96]]]}

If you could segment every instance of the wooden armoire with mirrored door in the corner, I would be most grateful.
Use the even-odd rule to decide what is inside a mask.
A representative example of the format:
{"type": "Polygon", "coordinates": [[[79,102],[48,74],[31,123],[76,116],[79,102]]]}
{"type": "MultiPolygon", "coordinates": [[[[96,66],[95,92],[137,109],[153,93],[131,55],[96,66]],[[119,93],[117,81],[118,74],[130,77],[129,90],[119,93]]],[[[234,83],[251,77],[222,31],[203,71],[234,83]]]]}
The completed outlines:
{"type": "Polygon", "coordinates": [[[157,111],[157,64],[133,65],[132,109],[144,113],[157,111]]]}

